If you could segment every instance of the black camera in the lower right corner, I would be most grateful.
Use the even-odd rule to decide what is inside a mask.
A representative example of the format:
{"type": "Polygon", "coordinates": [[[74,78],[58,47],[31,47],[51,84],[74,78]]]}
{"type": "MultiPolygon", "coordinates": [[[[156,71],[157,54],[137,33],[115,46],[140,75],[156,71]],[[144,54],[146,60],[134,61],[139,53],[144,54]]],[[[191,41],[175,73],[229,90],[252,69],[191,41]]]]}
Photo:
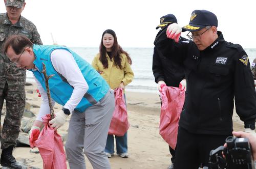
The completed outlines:
{"type": "Polygon", "coordinates": [[[209,167],[204,169],[255,169],[248,138],[226,138],[227,147],[210,151],[209,167]]]}

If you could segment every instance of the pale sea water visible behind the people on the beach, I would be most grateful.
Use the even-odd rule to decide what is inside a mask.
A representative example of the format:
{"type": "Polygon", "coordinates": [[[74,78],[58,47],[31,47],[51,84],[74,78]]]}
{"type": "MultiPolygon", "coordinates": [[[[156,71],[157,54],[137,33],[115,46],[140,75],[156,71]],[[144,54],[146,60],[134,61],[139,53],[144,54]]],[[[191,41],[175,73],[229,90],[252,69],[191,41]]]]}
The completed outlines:
{"type": "MultiPolygon", "coordinates": [[[[87,62],[92,63],[93,58],[99,52],[99,48],[72,47],[73,51],[87,62]]],[[[133,61],[134,80],[126,87],[126,91],[158,93],[157,84],[152,72],[153,48],[123,48],[133,61]]],[[[256,58],[256,48],[245,49],[249,61],[256,58]]],[[[34,82],[32,73],[27,71],[27,81],[34,82]]]]}

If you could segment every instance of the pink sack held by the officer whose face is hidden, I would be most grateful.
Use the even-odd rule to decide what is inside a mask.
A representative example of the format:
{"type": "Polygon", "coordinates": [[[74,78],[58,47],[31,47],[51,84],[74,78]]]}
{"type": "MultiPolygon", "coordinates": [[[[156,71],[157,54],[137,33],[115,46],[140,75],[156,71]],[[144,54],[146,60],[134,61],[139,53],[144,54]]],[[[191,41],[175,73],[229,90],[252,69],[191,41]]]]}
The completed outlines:
{"type": "Polygon", "coordinates": [[[185,90],[175,87],[162,87],[162,100],[159,134],[175,150],[177,144],[180,114],[185,101],[185,90]]]}

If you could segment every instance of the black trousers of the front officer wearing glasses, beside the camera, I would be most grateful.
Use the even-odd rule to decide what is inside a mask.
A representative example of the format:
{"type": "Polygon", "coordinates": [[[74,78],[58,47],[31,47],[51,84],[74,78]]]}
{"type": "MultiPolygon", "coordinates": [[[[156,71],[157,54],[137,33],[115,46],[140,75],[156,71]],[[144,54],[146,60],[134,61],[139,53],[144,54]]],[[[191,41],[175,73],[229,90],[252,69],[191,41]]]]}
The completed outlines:
{"type": "Polygon", "coordinates": [[[210,151],[223,146],[230,135],[194,134],[179,127],[174,168],[198,169],[201,164],[208,166],[210,151]]]}

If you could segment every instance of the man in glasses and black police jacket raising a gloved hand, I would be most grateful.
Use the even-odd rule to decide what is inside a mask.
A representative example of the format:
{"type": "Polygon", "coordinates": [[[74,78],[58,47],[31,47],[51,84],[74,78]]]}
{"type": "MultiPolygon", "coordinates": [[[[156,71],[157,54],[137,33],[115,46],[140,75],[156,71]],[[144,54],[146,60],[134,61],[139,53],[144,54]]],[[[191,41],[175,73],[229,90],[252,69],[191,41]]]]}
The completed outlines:
{"type": "Polygon", "coordinates": [[[194,41],[177,43],[187,90],[181,113],[174,168],[208,166],[209,152],[232,135],[233,100],[246,132],[254,133],[256,94],[248,56],[239,44],[226,42],[212,12],[195,10],[184,27],[172,24],[167,36],[181,31],[194,41]]]}

